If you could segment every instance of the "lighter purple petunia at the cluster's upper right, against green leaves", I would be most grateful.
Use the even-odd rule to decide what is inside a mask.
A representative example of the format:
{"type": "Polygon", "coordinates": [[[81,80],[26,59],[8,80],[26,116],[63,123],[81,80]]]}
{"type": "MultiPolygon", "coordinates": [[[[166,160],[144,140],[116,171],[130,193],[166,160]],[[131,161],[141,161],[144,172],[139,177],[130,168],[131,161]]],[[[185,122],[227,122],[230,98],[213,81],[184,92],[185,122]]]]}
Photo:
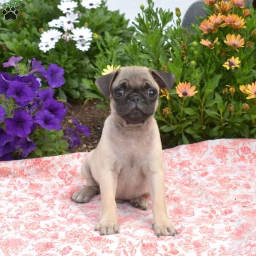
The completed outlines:
{"type": "Polygon", "coordinates": [[[64,80],[64,69],[59,67],[57,64],[50,64],[44,77],[50,87],[57,88],[65,83],[64,80]]]}

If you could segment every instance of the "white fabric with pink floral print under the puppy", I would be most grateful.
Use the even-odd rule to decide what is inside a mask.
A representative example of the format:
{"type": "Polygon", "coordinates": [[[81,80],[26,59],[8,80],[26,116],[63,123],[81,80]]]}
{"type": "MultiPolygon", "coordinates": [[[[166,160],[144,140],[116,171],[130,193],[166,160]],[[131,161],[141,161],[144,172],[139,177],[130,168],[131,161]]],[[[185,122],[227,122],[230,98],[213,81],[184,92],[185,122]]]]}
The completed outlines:
{"type": "Polygon", "coordinates": [[[0,162],[0,255],[256,256],[256,140],[164,151],[166,202],[179,235],[157,238],[152,210],[117,204],[120,233],[100,236],[100,195],[75,204],[87,152],[0,162]]]}

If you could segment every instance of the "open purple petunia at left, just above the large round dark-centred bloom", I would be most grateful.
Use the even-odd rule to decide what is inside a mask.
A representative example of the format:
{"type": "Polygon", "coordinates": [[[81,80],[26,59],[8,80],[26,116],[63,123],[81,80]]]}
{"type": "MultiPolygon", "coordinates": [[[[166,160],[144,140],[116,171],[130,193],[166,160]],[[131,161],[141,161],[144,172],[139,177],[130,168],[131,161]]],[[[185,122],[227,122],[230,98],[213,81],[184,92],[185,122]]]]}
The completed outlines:
{"type": "Polygon", "coordinates": [[[6,96],[14,98],[18,105],[24,107],[33,101],[34,94],[25,82],[10,81],[6,96]]]}

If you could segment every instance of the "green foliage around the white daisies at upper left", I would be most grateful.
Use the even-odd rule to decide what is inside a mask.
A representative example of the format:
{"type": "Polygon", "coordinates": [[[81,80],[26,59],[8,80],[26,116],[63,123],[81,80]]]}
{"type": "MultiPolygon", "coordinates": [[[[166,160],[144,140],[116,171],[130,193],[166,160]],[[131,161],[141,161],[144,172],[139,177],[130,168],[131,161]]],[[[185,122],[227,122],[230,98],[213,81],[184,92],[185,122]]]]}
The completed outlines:
{"type": "Polygon", "coordinates": [[[101,7],[90,10],[79,4],[76,10],[82,16],[75,27],[88,26],[98,35],[94,37],[90,49],[82,52],[76,49],[74,41],[61,39],[54,49],[44,53],[38,48],[41,36],[39,31],[47,31],[48,22],[64,15],[57,7],[59,3],[60,0],[23,0],[20,2],[17,20],[6,21],[3,16],[0,18],[0,63],[11,56],[23,56],[24,60],[36,58],[45,64],[56,63],[64,68],[66,79],[65,85],[56,90],[58,98],[66,100],[68,96],[83,99],[87,95],[87,87],[81,79],[94,81],[96,65],[99,64],[96,61],[98,55],[104,55],[102,52],[115,55],[113,49],[117,44],[130,41],[134,29],[128,28],[128,20],[119,11],[109,11],[105,2],[101,7]]]}

